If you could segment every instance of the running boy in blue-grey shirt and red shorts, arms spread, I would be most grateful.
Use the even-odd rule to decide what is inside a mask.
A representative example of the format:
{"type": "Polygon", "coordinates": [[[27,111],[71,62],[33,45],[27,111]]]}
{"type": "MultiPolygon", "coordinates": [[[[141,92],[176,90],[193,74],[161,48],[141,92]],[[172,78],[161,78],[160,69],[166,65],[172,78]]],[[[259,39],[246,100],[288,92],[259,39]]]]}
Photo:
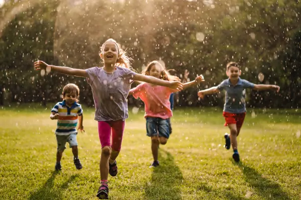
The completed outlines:
{"type": "Polygon", "coordinates": [[[233,148],[233,159],[239,162],[239,153],[237,150],[237,139],[243,120],[246,114],[245,105],[245,88],[252,88],[254,90],[276,90],[279,91],[280,87],[278,85],[271,84],[254,84],[245,79],[241,79],[239,76],[241,74],[240,67],[236,62],[229,62],[227,64],[226,74],[228,79],[223,80],[219,85],[200,90],[198,96],[204,98],[206,94],[218,93],[219,91],[225,89],[225,104],[223,109],[223,116],[225,117],[225,126],[230,129],[230,135],[225,134],[226,144],[225,147],[230,149],[230,144],[233,148]]]}

